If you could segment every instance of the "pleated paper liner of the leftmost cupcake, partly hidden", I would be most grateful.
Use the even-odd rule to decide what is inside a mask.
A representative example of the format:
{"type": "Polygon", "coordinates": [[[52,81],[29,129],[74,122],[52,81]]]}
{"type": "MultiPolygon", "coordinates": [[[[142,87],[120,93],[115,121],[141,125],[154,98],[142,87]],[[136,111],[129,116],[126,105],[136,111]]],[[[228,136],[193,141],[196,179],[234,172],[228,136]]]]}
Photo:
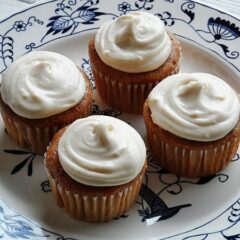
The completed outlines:
{"type": "Polygon", "coordinates": [[[35,153],[44,153],[58,127],[26,126],[2,112],[3,121],[8,135],[20,147],[35,153]]]}

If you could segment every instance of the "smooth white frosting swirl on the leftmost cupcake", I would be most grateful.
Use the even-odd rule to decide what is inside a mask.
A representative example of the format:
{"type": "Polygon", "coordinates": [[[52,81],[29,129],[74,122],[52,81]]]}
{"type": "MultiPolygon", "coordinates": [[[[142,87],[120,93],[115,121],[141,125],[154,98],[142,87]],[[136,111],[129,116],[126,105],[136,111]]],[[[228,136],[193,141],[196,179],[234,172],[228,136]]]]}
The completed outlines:
{"type": "Polygon", "coordinates": [[[34,51],[20,57],[3,74],[3,101],[18,115],[41,119],[63,112],[81,101],[86,84],[67,57],[34,51]]]}

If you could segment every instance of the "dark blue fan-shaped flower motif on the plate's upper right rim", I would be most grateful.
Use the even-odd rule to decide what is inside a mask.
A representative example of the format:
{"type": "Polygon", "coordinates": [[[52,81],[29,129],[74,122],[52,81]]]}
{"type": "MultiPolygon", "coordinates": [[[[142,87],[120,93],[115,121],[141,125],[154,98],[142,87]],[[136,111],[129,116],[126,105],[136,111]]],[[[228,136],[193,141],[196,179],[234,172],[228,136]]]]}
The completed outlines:
{"type": "Polygon", "coordinates": [[[240,37],[239,27],[219,17],[216,19],[209,18],[208,29],[215,40],[234,40],[240,37]]]}

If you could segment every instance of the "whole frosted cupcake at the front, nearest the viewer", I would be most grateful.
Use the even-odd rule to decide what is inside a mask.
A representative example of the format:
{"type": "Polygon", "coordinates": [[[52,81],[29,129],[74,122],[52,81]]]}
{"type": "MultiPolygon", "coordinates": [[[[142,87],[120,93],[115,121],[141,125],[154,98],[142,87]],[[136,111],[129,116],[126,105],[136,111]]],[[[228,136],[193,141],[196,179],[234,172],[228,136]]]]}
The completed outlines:
{"type": "Polygon", "coordinates": [[[45,165],[58,205],[78,220],[102,222],[121,216],[135,202],[146,148],[127,123],[90,116],[54,136],[45,165]]]}

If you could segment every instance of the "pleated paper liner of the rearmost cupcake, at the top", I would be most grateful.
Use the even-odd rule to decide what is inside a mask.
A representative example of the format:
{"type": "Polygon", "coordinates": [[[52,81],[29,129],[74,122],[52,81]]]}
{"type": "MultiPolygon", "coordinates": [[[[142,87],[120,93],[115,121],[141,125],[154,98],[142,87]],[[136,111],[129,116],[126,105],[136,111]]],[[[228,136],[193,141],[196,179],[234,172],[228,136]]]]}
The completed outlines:
{"type": "MultiPolygon", "coordinates": [[[[110,106],[130,113],[142,113],[143,104],[151,90],[162,80],[147,83],[121,83],[92,66],[96,89],[110,106]]],[[[167,76],[178,73],[179,66],[167,76]]],[[[167,77],[166,76],[166,77],[167,77]]]]}

